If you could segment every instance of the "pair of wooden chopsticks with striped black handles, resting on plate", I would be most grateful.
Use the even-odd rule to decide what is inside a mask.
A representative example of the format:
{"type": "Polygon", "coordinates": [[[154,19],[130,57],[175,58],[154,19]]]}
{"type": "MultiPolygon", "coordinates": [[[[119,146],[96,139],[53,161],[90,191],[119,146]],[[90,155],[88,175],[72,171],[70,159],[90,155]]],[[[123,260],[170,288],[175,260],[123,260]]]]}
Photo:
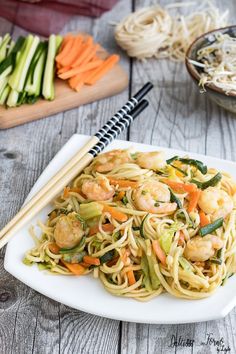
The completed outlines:
{"type": "Polygon", "coordinates": [[[0,231],[0,248],[63,188],[68,185],[103,149],[129,127],[130,123],[148,106],[143,97],[152,89],[148,82],[79,150],[56,175],[32,197],[16,216],[0,231]]]}

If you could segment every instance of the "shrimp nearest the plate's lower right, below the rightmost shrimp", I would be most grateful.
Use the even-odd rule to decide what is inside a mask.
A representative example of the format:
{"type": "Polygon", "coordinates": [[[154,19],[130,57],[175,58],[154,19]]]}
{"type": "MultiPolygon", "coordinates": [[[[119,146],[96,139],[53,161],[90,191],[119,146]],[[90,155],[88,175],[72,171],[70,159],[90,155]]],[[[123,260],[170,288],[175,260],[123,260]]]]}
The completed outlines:
{"type": "Polygon", "coordinates": [[[214,256],[215,250],[222,247],[223,241],[218,236],[194,236],[187,242],[184,256],[192,262],[205,262],[214,256]]]}

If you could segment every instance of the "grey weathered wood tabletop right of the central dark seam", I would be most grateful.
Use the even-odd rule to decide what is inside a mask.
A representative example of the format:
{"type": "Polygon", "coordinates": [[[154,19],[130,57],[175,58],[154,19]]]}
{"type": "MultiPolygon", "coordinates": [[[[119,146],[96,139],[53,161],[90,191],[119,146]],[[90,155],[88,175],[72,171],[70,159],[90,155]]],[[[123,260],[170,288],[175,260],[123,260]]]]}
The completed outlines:
{"type": "MultiPolygon", "coordinates": [[[[136,0],[135,8],[153,3],[136,0]]],[[[162,5],[167,3],[161,1],[162,5]]],[[[222,2],[217,3],[224,8],[222,2]]],[[[228,2],[227,6],[231,6],[232,14],[235,13],[234,2],[228,2]]],[[[145,63],[133,60],[132,79],[132,92],[148,80],[155,88],[149,94],[150,107],[131,126],[130,140],[235,160],[235,116],[198,93],[184,64],[168,60],[145,63]]],[[[234,353],[235,320],[233,310],[225,319],[207,323],[178,326],[123,323],[121,352],[216,353],[217,346],[212,338],[222,338],[224,348],[229,346],[234,353]],[[186,343],[187,339],[190,341],[186,343]],[[175,345],[175,340],[179,341],[179,346],[175,345]],[[207,340],[208,344],[204,345],[207,340]]]]}

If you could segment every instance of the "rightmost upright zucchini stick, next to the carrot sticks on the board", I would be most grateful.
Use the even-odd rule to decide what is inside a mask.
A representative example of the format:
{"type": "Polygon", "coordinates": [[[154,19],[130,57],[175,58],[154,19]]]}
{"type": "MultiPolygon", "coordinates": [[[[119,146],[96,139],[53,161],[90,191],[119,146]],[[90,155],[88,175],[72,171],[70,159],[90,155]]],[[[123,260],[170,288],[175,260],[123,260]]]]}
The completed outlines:
{"type": "Polygon", "coordinates": [[[61,43],[62,37],[55,36],[52,34],[49,37],[48,41],[48,53],[46,60],[46,67],[44,71],[43,77],[43,97],[47,100],[54,99],[54,67],[55,67],[55,56],[57,54],[57,50],[61,43]]]}

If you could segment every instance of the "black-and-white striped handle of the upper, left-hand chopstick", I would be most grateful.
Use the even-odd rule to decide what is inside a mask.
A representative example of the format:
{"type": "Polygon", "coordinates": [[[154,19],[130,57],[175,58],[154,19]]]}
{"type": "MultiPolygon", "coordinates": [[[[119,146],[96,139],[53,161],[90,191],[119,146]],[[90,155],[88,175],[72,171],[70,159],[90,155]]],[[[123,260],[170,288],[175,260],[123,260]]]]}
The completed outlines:
{"type": "Polygon", "coordinates": [[[114,125],[116,125],[120,119],[125,117],[129,112],[131,112],[142,98],[153,88],[151,82],[147,82],[133,97],[131,97],[126,104],[120,108],[118,112],[114,114],[107,122],[103,125],[102,128],[95,134],[95,136],[100,140],[103,138],[114,125]]]}

